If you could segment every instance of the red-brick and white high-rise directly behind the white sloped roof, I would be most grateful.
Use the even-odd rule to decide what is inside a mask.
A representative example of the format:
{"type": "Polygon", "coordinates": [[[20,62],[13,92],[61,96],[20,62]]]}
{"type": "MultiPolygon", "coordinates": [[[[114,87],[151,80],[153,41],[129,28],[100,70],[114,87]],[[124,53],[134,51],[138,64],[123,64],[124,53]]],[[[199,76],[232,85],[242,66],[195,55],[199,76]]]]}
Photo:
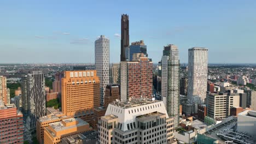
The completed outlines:
{"type": "Polygon", "coordinates": [[[135,61],[120,63],[121,99],[124,101],[129,98],[152,98],[153,62],[143,53],[139,54],[133,54],[135,61]]]}

